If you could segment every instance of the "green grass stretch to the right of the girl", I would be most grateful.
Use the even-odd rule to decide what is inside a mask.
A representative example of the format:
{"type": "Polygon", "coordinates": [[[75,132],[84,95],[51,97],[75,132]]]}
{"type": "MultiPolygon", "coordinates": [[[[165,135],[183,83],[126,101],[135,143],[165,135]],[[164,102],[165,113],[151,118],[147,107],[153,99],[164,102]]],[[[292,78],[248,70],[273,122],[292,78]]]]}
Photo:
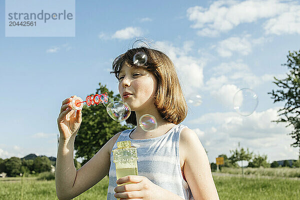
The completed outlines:
{"type": "Polygon", "coordinates": [[[257,178],[213,176],[220,199],[297,199],[300,180],[288,178],[257,178]]]}

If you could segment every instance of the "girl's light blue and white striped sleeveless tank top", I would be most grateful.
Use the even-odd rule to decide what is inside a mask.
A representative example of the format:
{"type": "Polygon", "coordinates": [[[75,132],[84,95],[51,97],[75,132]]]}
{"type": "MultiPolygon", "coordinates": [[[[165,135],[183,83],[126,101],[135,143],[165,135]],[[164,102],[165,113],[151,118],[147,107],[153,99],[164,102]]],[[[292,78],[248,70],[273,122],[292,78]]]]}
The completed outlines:
{"type": "MultiPolygon", "coordinates": [[[[154,184],[177,194],[185,200],[193,200],[190,188],[184,178],[179,159],[179,136],[180,131],[186,127],[178,124],[168,130],[165,134],[148,139],[131,139],[129,137],[132,129],[120,133],[116,142],[130,140],[131,145],[137,147],[137,170],[151,180],[154,184]]],[[[112,150],[117,148],[116,142],[112,150]]],[[[109,183],[107,189],[107,200],[114,200],[114,187],[117,186],[115,163],[113,153],[110,152],[109,183]]]]}

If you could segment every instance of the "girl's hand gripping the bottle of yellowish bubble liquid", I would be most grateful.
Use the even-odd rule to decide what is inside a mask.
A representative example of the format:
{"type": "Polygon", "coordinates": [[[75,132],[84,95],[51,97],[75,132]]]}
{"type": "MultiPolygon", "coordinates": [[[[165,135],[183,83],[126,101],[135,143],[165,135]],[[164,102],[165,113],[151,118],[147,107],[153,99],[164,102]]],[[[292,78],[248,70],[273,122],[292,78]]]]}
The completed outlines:
{"type": "Polygon", "coordinates": [[[124,182],[132,182],[114,188],[116,192],[114,196],[121,199],[146,199],[156,200],[162,199],[162,196],[167,195],[167,190],[154,184],[145,176],[127,175],[117,180],[117,184],[124,182]]]}

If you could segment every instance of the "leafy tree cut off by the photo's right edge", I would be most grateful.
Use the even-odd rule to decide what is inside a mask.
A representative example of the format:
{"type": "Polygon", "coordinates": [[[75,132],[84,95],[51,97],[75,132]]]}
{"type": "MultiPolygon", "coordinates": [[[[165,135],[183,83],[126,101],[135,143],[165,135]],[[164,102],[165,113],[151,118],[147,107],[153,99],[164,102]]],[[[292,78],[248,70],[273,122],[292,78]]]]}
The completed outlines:
{"type": "Polygon", "coordinates": [[[279,89],[268,92],[271,94],[271,98],[275,102],[285,102],[284,107],[278,110],[279,119],[274,122],[284,122],[287,126],[292,125],[292,132],[288,133],[291,135],[295,142],[291,144],[293,147],[299,147],[299,160],[300,160],[300,50],[299,51],[288,51],[287,63],[282,64],[287,66],[289,71],[286,73],[286,78],[278,79],[274,77],[273,83],[275,83],[279,89]]]}

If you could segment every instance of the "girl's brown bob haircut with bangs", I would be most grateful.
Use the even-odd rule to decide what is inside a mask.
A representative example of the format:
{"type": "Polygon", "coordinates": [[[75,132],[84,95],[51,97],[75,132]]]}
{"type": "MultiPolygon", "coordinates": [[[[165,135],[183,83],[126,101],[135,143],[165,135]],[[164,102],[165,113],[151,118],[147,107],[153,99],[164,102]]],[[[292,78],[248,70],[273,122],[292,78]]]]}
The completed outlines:
{"type": "MultiPolygon", "coordinates": [[[[123,64],[128,67],[143,67],[150,71],[157,80],[157,90],[154,98],[154,105],[160,116],[171,123],[179,124],[186,117],[187,105],[182,89],[177,77],[177,73],[172,61],[163,52],[147,47],[128,49],[125,53],[117,56],[112,62],[112,70],[115,77],[119,80],[119,71],[123,64]],[[133,64],[133,56],[137,52],[147,55],[147,62],[137,66],[133,64]]],[[[127,123],[136,125],[135,111],[131,111],[126,119],[127,123]]]]}

